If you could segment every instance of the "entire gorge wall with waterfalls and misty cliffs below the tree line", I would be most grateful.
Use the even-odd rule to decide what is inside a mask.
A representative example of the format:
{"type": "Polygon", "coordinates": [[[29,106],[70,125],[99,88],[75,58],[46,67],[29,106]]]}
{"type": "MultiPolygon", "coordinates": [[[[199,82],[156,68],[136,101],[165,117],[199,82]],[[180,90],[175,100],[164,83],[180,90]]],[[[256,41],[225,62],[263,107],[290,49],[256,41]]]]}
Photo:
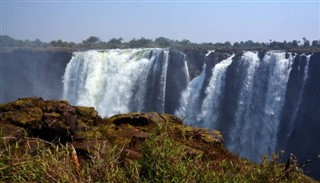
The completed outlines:
{"type": "MultiPolygon", "coordinates": [[[[41,96],[101,116],[175,114],[221,131],[230,151],[256,162],[281,150],[299,162],[320,153],[320,53],[139,48],[1,57],[1,103],[41,96]]],[[[319,179],[320,161],[305,171],[319,179]]]]}

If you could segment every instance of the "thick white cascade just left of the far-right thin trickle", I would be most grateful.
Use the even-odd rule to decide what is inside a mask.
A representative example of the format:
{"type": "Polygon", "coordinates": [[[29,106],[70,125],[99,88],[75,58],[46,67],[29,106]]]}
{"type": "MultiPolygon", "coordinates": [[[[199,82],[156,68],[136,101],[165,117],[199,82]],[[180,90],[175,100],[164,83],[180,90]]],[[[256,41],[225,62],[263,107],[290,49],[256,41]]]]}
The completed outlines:
{"type": "Polygon", "coordinates": [[[262,136],[266,137],[262,142],[268,145],[263,146],[266,149],[262,149],[261,153],[271,153],[276,149],[280,113],[285,101],[287,82],[293,63],[292,58],[291,55],[286,58],[284,52],[268,52],[263,59],[270,66],[270,72],[264,107],[265,116],[260,125],[263,129],[262,136]]]}

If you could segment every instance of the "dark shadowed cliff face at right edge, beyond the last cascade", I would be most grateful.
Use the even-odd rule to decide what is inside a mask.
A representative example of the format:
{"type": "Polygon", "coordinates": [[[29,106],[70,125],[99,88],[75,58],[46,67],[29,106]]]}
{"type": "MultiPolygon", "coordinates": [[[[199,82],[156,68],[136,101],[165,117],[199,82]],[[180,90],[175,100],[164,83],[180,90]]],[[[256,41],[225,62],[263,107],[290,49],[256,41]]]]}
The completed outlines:
{"type": "MultiPolygon", "coordinates": [[[[299,60],[303,66],[305,61],[299,60]]],[[[299,62],[298,62],[299,63],[299,62]]],[[[302,68],[302,67],[301,67],[302,68]]],[[[320,130],[320,54],[314,54],[309,61],[309,75],[307,77],[313,78],[308,80],[304,85],[304,90],[301,93],[302,99],[300,107],[297,109],[298,113],[295,116],[294,126],[291,126],[292,134],[288,138],[288,144],[285,152],[295,153],[297,156],[312,159],[314,162],[311,166],[311,175],[320,179],[320,143],[319,143],[319,130],[320,130]]],[[[298,71],[297,71],[298,72],[298,71]]],[[[292,79],[299,80],[304,77],[302,74],[292,79]]],[[[299,81],[295,82],[295,87],[299,86],[299,81]]],[[[294,87],[294,86],[292,86],[294,87]]],[[[291,100],[297,100],[294,97],[294,88],[290,88],[292,96],[291,100]]],[[[290,93],[291,93],[290,92],[290,93]]],[[[291,105],[290,105],[291,106],[291,105]]],[[[293,105],[294,106],[294,105],[293,105]]],[[[285,123],[282,123],[284,125],[285,123]]],[[[281,134],[279,134],[279,137],[281,134]]],[[[281,137],[279,138],[279,141],[281,137]]],[[[281,142],[281,141],[280,141],[281,142]]]]}

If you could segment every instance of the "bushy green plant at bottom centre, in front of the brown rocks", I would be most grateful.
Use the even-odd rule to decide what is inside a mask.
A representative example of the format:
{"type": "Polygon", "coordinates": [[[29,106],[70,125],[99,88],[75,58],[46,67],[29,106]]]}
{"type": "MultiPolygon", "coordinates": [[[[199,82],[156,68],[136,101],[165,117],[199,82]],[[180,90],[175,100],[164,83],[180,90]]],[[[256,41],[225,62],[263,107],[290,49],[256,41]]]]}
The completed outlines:
{"type": "Polygon", "coordinates": [[[167,134],[147,139],[140,160],[142,182],[214,182],[209,164],[201,156],[188,157],[185,150],[167,134]]]}

